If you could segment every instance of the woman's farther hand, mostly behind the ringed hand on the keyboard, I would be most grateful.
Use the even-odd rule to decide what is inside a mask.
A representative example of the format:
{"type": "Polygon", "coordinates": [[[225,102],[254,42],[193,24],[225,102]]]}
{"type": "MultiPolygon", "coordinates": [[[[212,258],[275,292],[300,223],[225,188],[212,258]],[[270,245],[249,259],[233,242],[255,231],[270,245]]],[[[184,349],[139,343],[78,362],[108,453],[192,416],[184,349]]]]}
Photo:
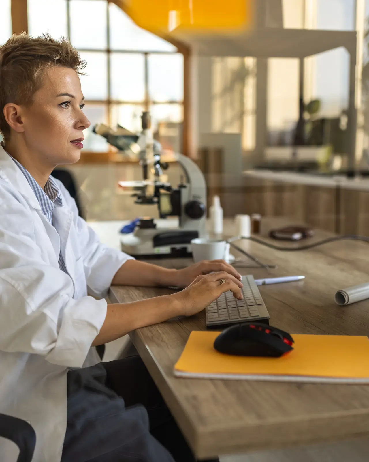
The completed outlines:
{"type": "Polygon", "coordinates": [[[203,274],[209,274],[214,272],[226,271],[226,273],[231,274],[234,278],[240,280],[241,274],[239,274],[231,265],[226,263],[224,260],[211,260],[211,261],[200,261],[195,263],[187,268],[178,269],[174,274],[174,281],[172,286],[177,286],[180,288],[185,288],[189,286],[197,276],[203,274]]]}

